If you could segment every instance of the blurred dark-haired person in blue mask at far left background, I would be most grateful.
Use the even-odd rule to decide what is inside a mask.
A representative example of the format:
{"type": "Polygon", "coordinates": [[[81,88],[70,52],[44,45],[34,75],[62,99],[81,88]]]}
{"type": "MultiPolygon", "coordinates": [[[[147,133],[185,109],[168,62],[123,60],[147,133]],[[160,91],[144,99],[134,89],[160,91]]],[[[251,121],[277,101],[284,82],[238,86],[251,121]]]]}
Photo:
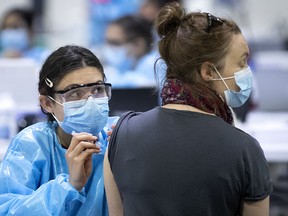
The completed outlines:
{"type": "Polygon", "coordinates": [[[4,14],[0,27],[1,58],[31,58],[42,63],[48,53],[36,43],[32,10],[13,8],[4,14]]]}

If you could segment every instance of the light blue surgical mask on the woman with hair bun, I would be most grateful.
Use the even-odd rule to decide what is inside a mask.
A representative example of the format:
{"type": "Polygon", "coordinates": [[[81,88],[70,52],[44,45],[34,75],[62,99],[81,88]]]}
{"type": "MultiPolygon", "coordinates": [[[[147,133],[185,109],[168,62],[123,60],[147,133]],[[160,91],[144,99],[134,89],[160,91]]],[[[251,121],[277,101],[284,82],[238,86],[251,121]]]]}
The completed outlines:
{"type": "Polygon", "coordinates": [[[232,77],[225,77],[225,78],[221,76],[221,74],[218,72],[218,70],[214,65],[213,67],[220,78],[212,80],[221,80],[224,83],[225,87],[227,88],[227,90],[224,91],[227,105],[232,108],[242,106],[248,100],[252,91],[253,74],[250,67],[248,66],[243,70],[235,72],[234,76],[232,77]],[[225,80],[227,79],[235,79],[236,85],[240,88],[240,91],[236,92],[234,90],[229,89],[228,85],[225,82],[225,80]]]}

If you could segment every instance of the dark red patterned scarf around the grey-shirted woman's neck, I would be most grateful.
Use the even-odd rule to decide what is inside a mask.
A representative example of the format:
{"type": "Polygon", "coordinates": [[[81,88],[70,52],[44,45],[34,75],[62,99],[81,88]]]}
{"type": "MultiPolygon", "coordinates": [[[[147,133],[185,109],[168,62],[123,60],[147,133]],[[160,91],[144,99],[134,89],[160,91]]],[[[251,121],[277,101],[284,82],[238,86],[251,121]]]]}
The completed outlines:
{"type": "Polygon", "coordinates": [[[227,104],[213,89],[205,85],[195,84],[189,87],[178,79],[167,79],[162,88],[161,98],[162,105],[190,105],[233,124],[233,115],[227,104]]]}

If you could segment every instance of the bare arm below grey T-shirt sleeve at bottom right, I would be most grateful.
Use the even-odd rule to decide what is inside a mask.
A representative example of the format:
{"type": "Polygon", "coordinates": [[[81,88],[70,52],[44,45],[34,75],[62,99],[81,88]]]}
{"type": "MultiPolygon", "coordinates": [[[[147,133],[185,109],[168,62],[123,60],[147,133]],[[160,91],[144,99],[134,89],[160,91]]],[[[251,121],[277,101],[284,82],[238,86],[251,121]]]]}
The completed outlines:
{"type": "Polygon", "coordinates": [[[242,216],[269,216],[269,196],[259,201],[244,201],[242,216]]]}

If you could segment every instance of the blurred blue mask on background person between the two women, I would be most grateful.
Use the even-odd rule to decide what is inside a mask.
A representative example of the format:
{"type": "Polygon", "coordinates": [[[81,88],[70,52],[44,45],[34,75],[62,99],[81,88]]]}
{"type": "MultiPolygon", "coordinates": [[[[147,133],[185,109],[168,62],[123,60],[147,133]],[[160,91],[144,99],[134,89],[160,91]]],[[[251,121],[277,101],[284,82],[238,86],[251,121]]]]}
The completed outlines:
{"type": "Polygon", "coordinates": [[[114,67],[120,73],[131,70],[134,63],[133,58],[128,56],[128,50],[125,45],[105,45],[103,47],[103,58],[103,62],[105,62],[105,64],[114,67]]]}

